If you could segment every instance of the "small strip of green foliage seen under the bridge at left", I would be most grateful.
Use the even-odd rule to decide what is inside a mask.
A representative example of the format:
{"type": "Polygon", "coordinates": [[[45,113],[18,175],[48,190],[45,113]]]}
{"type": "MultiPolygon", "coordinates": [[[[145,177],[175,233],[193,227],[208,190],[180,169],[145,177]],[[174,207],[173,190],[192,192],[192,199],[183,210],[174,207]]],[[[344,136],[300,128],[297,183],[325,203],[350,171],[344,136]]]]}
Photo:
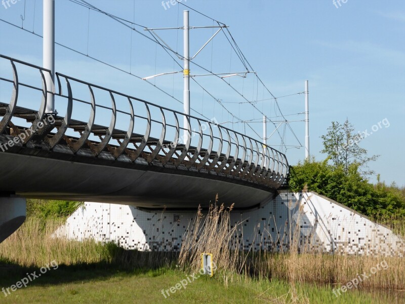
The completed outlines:
{"type": "Polygon", "coordinates": [[[27,216],[67,217],[83,203],[54,200],[27,200],[27,216]]]}

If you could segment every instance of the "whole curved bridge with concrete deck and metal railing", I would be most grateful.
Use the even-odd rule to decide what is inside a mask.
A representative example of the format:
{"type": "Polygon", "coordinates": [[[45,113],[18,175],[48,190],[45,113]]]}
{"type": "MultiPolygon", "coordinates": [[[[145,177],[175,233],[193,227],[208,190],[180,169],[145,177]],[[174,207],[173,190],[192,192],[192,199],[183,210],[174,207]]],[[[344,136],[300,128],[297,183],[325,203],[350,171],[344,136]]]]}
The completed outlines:
{"type": "Polygon", "coordinates": [[[10,66],[0,78],[10,96],[0,99],[3,195],[195,210],[219,194],[250,209],[285,182],[284,154],[218,122],[61,73],[49,85],[51,70],[0,59],[10,66]],[[51,94],[59,113],[46,112],[51,94]]]}

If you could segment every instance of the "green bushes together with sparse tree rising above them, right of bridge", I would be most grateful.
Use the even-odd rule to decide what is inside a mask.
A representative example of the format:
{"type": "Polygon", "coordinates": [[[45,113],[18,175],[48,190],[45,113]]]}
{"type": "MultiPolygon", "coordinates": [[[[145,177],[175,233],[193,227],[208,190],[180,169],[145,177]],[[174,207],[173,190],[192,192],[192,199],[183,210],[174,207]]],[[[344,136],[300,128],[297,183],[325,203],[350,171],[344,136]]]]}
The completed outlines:
{"type": "Polygon", "coordinates": [[[367,150],[358,145],[362,135],[354,133],[347,119],[343,124],[332,122],[328,133],[321,138],[321,153],[326,153],[328,158],[322,162],[312,158],[292,166],[288,177],[292,191],[307,188],[374,219],[405,216],[405,188],[399,189],[395,184],[387,186],[379,177],[373,185],[365,176],[374,172],[360,171],[361,166],[367,167],[378,156],[367,156],[367,150]]]}

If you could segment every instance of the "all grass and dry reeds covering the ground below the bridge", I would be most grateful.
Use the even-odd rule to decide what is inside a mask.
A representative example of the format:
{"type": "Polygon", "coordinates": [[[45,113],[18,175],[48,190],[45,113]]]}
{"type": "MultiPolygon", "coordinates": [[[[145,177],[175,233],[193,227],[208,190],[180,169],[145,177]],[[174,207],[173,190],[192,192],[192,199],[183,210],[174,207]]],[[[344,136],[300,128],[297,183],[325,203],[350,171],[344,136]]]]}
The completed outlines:
{"type": "Polygon", "coordinates": [[[30,216],[0,244],[0,289],[52,260],[59,267],[7,297],[0,291],[0,303],[405,303],[404,258],[298,254],[300,244],[294,242],[281,253],[229,250],[228,245],[243,246],[243,237],[235,238],[242,223],[230,226],[231,209],[212,206],[208,216],[198,210],[180,253],[55,238],[63,219],[30,216]],[[214,254],[215,276],[198,278],[165,298],[161,289],[198,271],[201,252],[214,254]],[[383,260],[388,269],[335,297],[333,288],[383,260]]]}

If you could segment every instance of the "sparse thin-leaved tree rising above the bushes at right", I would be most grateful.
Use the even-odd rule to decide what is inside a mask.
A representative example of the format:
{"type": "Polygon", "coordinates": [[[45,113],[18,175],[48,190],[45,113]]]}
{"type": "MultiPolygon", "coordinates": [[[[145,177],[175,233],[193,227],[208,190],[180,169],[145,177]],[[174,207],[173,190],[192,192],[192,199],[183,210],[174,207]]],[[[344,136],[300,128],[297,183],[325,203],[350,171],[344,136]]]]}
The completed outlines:
{"type": "MultiPolygon", "coordinates": [[[[343,124],[332,122],[328,127],[328,133],[321,136],[323,149],[321,153],[326,153],[333,161],[335,168],[343,167],[345,174],[351,164],[357,163],[359,166],[366,166],[370,161],[375,161],[379,156],[367,156],[367,150],[361,148],[358,143],[362,135],[354,133],[353,125],[346,119],[343,124]]],[[[363,171],[365,175],[373,174],[374,171],[363,171]]]]}

